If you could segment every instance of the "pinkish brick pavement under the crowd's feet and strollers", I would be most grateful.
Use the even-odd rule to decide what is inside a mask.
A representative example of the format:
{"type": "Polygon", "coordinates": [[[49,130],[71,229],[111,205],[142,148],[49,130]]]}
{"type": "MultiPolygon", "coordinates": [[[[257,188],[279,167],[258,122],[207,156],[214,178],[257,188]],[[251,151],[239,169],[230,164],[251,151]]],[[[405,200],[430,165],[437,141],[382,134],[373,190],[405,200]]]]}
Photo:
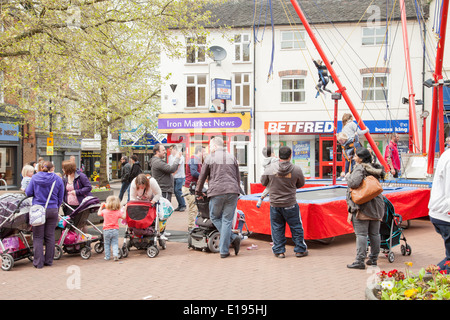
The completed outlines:
{"type": "MultiPolygon", "coordinates": [[[[186,221],[186,213],[175,212],[167,230],[184,231],[186,221]]],[[[412,255],[402,256],[397,246],[393,249],[394,263],[381,256],[379,268],[404,269],[404,262],[412,261],[412,271],[417,272],[443,258],[442,240],[428,220],[413,220],[404,234],[412,255]]],[[[300,259],[295,258],[292,243],[287,246],[285,259],[275,258],[270,237],[261,235],[243,241],[239,255],[227,259],[189,250],[186,243],[174,241],[153,259],[135,248],[119,262],[104,261],[104,255],[94,251],[88,260],[64,254],[52,267],[40,270],[25,259],[17,261],[11,271],[0,272],[0,299],[364,299],[373,269],[346,268],[355,256],[354,235],[336,237],[329,245],[307,244],[310,254],[300,259]],[[252,244],[258,248],[247,250],[252,244]]]]}

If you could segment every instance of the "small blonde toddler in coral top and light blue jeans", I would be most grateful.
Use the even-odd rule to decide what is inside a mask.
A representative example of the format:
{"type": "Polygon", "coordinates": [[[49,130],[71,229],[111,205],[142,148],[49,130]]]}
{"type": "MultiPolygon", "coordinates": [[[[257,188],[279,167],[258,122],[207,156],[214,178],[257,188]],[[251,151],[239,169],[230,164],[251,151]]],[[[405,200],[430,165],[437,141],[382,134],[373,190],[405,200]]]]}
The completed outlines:
{"type": "Polygon", "coordinates": [[[126,214],[120,210],[119,197],[106,198],[106,203],[101,204],[98,215],[103,216],[105,260],[109,260],[112,247],[114,261],[117,261],[119,260],[119,218],[126,218],[126,214]]]}

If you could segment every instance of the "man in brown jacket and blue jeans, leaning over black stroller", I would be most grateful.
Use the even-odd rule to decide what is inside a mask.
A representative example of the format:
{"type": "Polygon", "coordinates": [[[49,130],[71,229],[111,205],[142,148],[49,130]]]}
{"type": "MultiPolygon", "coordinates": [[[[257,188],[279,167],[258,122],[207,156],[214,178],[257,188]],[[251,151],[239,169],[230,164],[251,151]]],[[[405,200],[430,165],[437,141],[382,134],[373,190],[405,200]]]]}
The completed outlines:
{"type": "Polygon", "coordinates": [[[210,154],[202,165],[195,193],[200,198],[204,196],[202,189],[208,179],[209,215],[220,233],[220,257],[226,258],[230,255],[230,243],[236,255],[241,243],[240,237],[232,232],[240,193],[239,165],[236,158],[226,151],[221,137],[211,139],[209,150],[210,154]]]}

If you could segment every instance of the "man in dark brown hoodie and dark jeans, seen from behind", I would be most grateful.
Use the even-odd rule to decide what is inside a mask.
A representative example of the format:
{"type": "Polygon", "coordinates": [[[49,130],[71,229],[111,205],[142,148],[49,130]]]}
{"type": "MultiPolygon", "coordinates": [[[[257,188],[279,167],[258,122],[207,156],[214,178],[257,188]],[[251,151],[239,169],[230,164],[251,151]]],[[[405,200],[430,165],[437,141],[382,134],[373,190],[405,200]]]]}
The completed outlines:
{"type": "Polygon", "coordinates": [[[261,183],[270,183],[270,226],[272,229],[272,252],[277,258],[285,257],[286,223],[289,225],[294,241],[297,258],[308,255],[308,248],[303,237],[300,208],[297,203],[297,189],[305,184],[302,169],[291,163],[292,150],[281,147],[280,161],[273,162],[266,168],[261,183]]]}

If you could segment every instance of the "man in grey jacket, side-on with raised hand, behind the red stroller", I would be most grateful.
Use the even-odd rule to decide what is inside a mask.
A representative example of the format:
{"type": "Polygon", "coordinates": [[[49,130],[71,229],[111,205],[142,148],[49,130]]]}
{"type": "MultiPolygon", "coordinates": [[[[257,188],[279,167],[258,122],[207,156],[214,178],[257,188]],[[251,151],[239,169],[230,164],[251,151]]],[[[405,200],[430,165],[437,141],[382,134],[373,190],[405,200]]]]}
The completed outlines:
{"type": "Polygon", "coordinates": [[[152,177],[158,182],[161,188],[162,196],[169,201],[172,201],[173,193],[173,175],[180,164],[181,152],[177,152],[175,160],[172,165],[169,165],[166,159],[166,147],[163,144],[157,143],[153,147],[154,156],[151,159],[152,177]]]}

